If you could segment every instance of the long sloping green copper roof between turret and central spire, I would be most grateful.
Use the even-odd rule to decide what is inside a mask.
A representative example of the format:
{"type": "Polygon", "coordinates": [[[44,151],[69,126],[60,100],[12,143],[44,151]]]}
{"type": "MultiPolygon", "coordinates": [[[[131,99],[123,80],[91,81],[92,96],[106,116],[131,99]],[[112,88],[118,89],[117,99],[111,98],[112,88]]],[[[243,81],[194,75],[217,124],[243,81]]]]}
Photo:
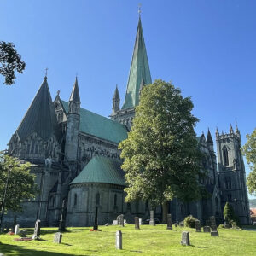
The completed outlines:
{"type": "MultiPolygon", "coordinates": [[[[68,103],[61,101],[66,113],[68,103]]],[[[120,143],[127,138],[127,129],[116,121],[80,108],[80,131],[100,137],[113,143],[120,143]]]]}

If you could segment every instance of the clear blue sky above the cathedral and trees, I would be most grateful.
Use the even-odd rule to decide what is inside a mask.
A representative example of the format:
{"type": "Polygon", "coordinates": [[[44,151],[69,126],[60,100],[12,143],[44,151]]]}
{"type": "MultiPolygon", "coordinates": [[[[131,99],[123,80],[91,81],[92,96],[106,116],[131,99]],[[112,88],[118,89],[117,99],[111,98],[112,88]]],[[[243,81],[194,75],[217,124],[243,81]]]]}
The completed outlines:
{"type": "MultiPolygon", "coordinates": [[[[82,107],[108,116],[115,84],[121,102],[142,22],[152,79],[191,96],[196,132],[212,136],[237,121],[242,143],[255,128],[256,2],[12,1],[0,2],[0,40],[13,42],[26,71],[15,85],[0,77],[0,148],[6,148],[49,67],[51,96],[68,100],[76,73],[82,107]],[[2,84],[2,85],[1,85],[2,84]]],[[[247,168],[248,171],[248,168],[247,168]]]]}

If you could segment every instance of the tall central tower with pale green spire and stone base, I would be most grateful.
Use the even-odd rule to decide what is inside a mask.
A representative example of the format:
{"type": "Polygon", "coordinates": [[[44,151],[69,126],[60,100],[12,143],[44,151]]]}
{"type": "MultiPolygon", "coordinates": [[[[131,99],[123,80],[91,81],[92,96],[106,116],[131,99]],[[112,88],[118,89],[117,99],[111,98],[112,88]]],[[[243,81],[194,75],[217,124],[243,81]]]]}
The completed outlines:
{"type": "Polygon", "coordinates": [[[139,103],[140,90],[146,84],[152,84],[151,74],[148,65],[148,56],[143,37],[143,26],[139,16],[137,35],[131,59],[131,67],[126,87],[125,102],[123,107],[110,115],[111,119],[125,125],[131,130],[132,119],[135,114],[135,107],[139,103]],[[143,84],[143,85],[142,85],[143,84]]]}

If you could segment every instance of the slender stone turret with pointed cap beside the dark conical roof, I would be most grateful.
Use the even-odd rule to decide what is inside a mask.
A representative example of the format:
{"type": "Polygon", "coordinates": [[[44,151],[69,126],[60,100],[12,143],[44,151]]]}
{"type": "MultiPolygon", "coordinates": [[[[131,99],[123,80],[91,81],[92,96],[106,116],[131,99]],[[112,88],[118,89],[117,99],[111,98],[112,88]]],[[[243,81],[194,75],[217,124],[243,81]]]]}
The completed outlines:
{"type": "Polygon", "coordinates": [[[80,96],[78,79],[75,79],[73,90],[68,102],[67,131],[65,143],[65,160],[76,172],[78,160],[79,125],[80,125],[80,96]]]}

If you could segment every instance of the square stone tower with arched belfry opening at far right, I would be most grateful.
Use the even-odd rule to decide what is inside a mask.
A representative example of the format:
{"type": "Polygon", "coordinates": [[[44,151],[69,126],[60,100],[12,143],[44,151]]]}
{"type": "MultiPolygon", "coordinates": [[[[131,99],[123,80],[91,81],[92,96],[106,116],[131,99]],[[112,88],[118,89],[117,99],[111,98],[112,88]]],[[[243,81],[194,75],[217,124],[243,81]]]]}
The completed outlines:
{"type": "Polygon", "coordinates": [[[230,125],[230,132],[216,131],[218,152],[219,189],[222,191],[222,208],[229,202],[239,217],[241,224],[249,224],[249,204],[247,197],[246,172],[241,155],[241,135],[230,125]]]}

